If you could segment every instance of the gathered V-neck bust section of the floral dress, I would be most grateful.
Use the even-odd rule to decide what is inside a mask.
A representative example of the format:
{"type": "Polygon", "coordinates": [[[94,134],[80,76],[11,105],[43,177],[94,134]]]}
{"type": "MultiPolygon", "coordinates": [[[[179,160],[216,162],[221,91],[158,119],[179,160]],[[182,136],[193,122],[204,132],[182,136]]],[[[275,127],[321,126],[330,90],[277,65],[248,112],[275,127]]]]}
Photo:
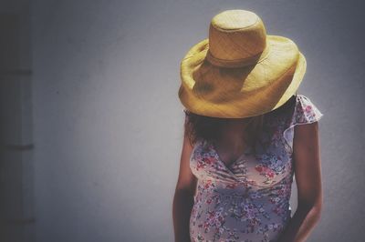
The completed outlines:
{"type": "Polygon", "coordinates": [[[280,144],[273,144],[266,149],[252,149],[226,164],[218,155],[214,146],[205,141],[198,142],[190,159],[193,174],[201,179],[213,179],[227,183],[245,183],[246,186],[271,187],[290,176],[292,159],[280,144]]]}

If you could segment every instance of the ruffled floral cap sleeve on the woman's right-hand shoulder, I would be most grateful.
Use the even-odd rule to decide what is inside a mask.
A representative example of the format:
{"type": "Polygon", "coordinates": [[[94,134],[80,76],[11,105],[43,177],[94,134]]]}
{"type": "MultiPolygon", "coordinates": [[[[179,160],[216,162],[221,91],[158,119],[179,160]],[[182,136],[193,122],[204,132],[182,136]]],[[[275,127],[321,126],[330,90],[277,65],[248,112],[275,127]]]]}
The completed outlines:
{"type": "Polygon", "coordinates": [[[290,153],[293,153],[294,126],[317,122],[322,116],[318,107],[307,96],[297,94],[293,116],[291,116],[289,126],[283,132],[290,153]]]}

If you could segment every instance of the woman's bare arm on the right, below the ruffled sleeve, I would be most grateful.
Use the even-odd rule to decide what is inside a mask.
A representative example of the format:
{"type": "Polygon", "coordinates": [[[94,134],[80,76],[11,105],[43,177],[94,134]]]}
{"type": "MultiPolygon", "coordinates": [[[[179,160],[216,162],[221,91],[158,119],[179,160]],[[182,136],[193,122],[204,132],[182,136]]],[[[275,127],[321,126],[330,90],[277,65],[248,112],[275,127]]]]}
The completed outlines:
{"type": "Polygon", "coordinates": [[[277,241],[306,241],[320,219],[322,207],[318,122],[295,126],[293,158],[297,182],[297,211],[277,241]]]}

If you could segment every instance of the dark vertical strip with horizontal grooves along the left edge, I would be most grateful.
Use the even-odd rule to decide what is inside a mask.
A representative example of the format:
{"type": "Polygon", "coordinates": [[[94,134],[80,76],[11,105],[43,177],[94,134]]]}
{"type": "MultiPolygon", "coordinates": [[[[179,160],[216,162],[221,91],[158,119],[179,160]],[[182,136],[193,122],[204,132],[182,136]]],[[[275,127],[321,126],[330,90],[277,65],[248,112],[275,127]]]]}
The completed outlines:
{"type": "Polygon", "coordinates": [[[0,241],[35,240],[29,2],[0,1],[0,241]]]}

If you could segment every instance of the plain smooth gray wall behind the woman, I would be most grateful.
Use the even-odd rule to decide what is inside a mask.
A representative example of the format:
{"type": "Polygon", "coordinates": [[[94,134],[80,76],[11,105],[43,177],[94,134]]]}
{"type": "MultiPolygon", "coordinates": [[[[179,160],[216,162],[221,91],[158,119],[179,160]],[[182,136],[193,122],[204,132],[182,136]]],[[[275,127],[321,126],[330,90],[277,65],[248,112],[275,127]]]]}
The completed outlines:
{"type": "MultiPolygon", "coordinates": [[[[298,93],[324,114],[324,209],[308,241],[360,241],[365,202],[360,1],[34,1],[36,239],[172,241],[185,52],[231,8],[293,39],[298,93]],[[355,221],[357,221],[355,223],[355,221]]],[[[292,202],[295,202],[295,199],[292,202]]]]}

